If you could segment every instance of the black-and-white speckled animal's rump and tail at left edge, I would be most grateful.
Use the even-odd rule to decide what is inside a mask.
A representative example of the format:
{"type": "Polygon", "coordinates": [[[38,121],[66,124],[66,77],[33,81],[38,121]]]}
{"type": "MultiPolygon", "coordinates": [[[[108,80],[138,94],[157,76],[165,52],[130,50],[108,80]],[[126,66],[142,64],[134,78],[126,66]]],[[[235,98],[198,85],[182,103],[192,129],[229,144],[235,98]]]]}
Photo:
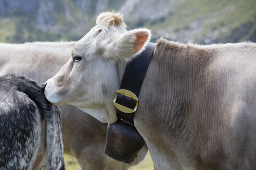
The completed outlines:
{"type": "Polygon", "coordinates": [[[60,110],[24,77],[0,77],[0,169],[65,169],[60,110]]]}

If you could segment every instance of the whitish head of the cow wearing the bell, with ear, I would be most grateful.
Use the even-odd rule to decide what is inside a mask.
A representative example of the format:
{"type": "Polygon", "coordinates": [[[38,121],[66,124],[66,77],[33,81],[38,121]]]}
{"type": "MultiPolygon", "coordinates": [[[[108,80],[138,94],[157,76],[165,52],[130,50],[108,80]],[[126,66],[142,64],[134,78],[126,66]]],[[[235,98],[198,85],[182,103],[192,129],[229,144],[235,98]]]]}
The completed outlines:
{"type": "Polygon", "coordinates": [[[147,29],[127,31],[120,13],[101,13],[96,26],[75,44],[71,59],[47,80],[47,100],[73,105],[101,122],[114,123],[112,100],[120,86],[117,63],[125,66],[149,39],[147,29]]]}

